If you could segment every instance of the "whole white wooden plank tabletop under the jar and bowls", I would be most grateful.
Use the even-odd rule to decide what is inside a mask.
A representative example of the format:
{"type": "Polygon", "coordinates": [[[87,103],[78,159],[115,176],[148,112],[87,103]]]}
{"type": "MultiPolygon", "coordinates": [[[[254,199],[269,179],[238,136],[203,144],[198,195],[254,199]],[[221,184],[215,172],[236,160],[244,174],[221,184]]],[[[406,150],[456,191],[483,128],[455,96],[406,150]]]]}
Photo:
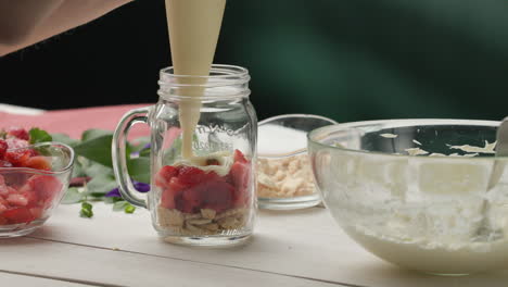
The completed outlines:
{"type": "Polygon", "coordinates": [[[392,266],[353,242],[323,208],[259,211],[252,240],[221,249],[160,240],[145,210],[97,203],[93,219],[81,219],[79,208],[61,205],[34,234],[0,240],[0,286],[508,286],[508,269],[439,277],[392,266]]]}

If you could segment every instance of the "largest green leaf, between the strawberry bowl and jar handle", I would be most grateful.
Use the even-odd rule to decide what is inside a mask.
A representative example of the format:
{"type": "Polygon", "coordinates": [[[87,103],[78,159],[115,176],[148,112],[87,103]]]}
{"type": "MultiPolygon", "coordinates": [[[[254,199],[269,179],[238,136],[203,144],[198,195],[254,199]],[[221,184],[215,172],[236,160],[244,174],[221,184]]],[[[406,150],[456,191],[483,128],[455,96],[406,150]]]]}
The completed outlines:
{"type": "Polygon", "coordinates": [[[81,141],[74,147],[76,154],[96,161],[105,166],[113,166],[111,160],[111,142],[113,135],[103,135],[81,141]]]}

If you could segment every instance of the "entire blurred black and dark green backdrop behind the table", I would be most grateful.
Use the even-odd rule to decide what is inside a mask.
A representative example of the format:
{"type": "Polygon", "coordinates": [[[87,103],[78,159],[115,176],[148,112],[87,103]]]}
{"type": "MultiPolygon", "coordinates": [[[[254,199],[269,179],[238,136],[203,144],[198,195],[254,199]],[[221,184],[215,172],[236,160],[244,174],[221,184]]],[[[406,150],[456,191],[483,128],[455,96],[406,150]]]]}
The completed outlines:
{"type": "MultiPolygon", "coordinates": [[[[46,109],[155,101],[157,71],[169,64],[165,21],[164,1],[137,0],[4,57],[2,101],[46,109]],[[47,75],[27,73],[41,67],[47,75]],[[35,88],[21,90],[26,83],[35,88]]],[[[229,0],[215,62],[250,68],[261,118],[500,120],[508,1],[229,0]]]]}

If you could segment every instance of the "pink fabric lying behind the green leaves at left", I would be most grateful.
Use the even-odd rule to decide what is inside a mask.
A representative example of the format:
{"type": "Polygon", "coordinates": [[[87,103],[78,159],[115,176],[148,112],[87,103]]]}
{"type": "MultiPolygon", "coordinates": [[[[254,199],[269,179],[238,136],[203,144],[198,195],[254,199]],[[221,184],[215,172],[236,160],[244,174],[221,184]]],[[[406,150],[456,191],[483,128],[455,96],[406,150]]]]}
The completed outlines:
{"type": "MultiPolygon", "coordinates": [[[[51,134],[63,133],[72,138],[80,138],[81,133],[90,128],[114,130],[122,116],[137,108],[151,105],[125,104],[99,108],[49,111],[40,115],[18,115],[0,112],[0,128],[20,126],[25,128],[39,127],[51,134]]],[[[136,125],[129,133],[129,138],[148,136],[147,125],[136,125]]]]}

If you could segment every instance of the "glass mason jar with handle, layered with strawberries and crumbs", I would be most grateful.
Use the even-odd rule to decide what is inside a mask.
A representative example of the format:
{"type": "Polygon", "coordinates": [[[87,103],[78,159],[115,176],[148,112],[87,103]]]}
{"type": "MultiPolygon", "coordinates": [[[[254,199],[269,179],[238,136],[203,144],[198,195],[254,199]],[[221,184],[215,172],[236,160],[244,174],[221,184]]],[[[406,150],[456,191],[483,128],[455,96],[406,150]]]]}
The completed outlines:
{"type": "Polygon", "coordinates": [[[132,110],[113,140],[113,165],[122,196],[150,210],[168,242],[239,244],[256,214],[257,118],[249,101],[249,72],[213,65],[209,76],[161,71],[155,105],[132,110]],[[151,128],[151,191],[135,196],[126,164],[126,136],[137,123],[151,128]]]}

